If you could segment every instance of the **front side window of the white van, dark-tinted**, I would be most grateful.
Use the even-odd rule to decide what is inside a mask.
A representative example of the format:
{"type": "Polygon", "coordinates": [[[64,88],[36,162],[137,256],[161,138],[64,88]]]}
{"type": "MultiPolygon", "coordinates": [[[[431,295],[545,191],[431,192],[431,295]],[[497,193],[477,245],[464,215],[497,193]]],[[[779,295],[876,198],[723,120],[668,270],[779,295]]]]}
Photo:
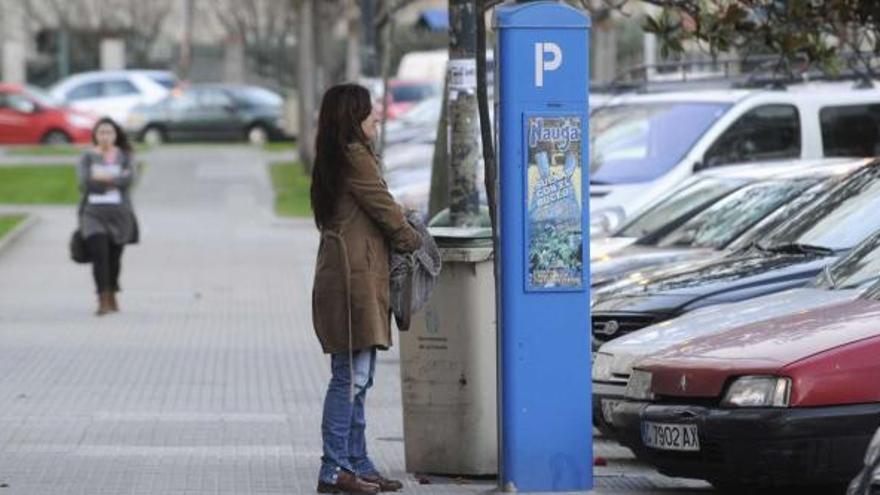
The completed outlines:
{"type": "Polygon", "coordinates": [[[734,122],[706,152],[704,165],[782,160],[801,156],[801,124],[792,105],[765,105],[734,122]]]}

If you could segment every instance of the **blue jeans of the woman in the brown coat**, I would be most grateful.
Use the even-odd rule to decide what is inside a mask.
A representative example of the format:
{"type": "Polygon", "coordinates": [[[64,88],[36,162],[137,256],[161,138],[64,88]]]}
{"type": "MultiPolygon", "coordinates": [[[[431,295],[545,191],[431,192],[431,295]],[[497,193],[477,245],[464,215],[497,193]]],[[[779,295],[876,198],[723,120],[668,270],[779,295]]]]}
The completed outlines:
{"type": "Polygon", "coordinates": [[[376,370],[376,349],[355,351],[349,365],[348,352],[330,357],[332,376],[324,399],[324,417],[321,436],[324,455],[318,477],[325,483],[336,483],[339,470],[344,469],[357,476],[377,474],[376,467],[367,457],[367,427],[364,402],[367,390],[373,386],[376,370]],[[351,380],[354,378],[354,390],[351,380]],[[354,400],[351,394],[354,392],[354,400]]]}

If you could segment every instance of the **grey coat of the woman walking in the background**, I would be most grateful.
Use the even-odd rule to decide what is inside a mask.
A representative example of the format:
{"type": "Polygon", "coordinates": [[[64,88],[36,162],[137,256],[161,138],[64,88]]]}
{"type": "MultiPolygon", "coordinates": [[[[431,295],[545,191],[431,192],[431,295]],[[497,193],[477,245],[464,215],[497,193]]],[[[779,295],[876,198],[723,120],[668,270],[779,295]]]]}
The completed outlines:
{"type": "Polygon", "coordinates": [[[89,238],[96,234],[106,234],[115,244],[137,243],[140,235],[137,217],[131,204],[129,189],[135,178],[135,167],[131,155],[119,152],[119,161],[122,173],[114,179],[113,186],[118,189],[122,197],[119,204],[91,204],[88,196],[91,193],[105,193],[111,186],[104,182],[92,179],[92,164],[101,163],[102,157],[95,151],[87,151],[83,154],[77,170],[79,176],[79,190],[82,194],[80,200],[79,227],[83,238],[89,238]]]}

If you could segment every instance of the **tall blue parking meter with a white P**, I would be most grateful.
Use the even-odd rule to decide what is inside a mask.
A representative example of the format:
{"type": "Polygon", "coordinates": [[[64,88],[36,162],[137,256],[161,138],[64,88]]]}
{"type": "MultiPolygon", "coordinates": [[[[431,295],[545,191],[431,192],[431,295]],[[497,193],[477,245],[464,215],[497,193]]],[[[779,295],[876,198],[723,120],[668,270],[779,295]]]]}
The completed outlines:
{"type": "Polygon", "coordinates": [[[592,488],[588,43],[552,2],[499,7],[500,485],[592,488]]]}

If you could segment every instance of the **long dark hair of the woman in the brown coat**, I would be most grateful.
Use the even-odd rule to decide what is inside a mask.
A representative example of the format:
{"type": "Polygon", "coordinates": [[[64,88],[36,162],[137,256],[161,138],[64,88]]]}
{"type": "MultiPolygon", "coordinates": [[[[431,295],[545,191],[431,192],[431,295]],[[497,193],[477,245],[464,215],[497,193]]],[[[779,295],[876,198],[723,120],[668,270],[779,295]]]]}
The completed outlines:
{"type": "Polygon", "coordinates": [[[336,214],[339,195],[351,167],[345,147],[351,143],[369,146],[361,122],[372,111],[370,92],[357,84],[340,84],[324,93],[315,138],[312,168],[312,211],[315,224],[324,228],[336,214]]]}

